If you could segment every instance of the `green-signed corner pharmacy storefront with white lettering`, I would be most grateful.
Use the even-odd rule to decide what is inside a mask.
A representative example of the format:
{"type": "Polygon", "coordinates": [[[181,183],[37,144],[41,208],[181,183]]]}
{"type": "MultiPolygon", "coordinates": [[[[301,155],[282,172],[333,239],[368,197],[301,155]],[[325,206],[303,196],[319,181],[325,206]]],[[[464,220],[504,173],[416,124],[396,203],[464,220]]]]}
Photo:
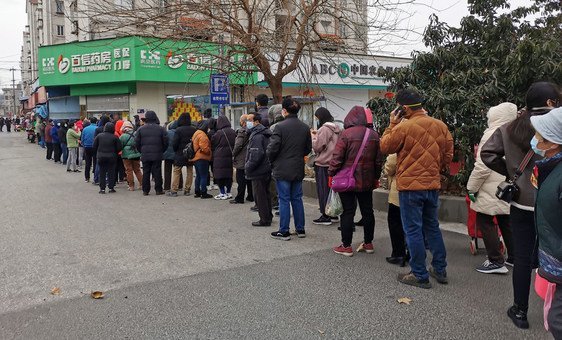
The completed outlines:
{"type": "MultiPolygon", "coordinates": [[[[223,53],[212,43],[138,36],[44,46],[39,77],[59,118],[142,117],[153,110],[161,122],[183,112],[200,120],[206,109],[220,109],[212,103],[209,80],[223,53]]],[[[231,62],[242,58],[234,54],[231,62]]],[[[256,75],[233,73],[228,81],[254,84],[256,75]]]]}

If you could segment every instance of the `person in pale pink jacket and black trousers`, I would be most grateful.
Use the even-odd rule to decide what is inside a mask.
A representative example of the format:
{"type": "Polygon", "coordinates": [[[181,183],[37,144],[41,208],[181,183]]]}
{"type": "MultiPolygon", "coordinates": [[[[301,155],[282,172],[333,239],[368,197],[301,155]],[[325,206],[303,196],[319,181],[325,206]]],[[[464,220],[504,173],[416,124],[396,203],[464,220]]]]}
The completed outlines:
{"type": "Polygon", "coordinates": [[[321,216],[312,221],[318,225],[331,225],[332,217],[326,215],[326,203],[328,202],[328,168],[332,160],[334,149],[341,132],[339,126],[334,123],[334,117],[325,107],[320,107],[314,113],[318,120],[318,130],[312,130],[312,150],[316,154],[314,160],[314,178],[316,179],[316,193],[320,205],[321,216]]]}

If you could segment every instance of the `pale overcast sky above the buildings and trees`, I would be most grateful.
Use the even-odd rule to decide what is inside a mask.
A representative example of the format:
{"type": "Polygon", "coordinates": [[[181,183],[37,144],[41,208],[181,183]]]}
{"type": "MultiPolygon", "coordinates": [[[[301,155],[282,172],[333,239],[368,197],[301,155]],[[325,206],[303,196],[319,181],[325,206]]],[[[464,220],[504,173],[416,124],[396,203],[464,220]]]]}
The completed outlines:
{"type": "MultiPolygon", "coordinates": [[[[19,68],[22,32],[27,24],[26,1],[29,0],[0,0],[0,87],[11,86],[12,75],[7,69],[19,68]]],[[[451,26],[458,25],[460,19],[468,14],[466,0],[421,0],[418,2],[424,5],[414,5],[406,11],[415,13],[407,26],[414,27],[419,34],[428,24],[428,18],[432,13],[437,13],[442,21],[446,21],[451,26]]],[[[530,0],[510,1],[512,8],[529,2],[530,0]]],[[[409,40],[413,41],[395,49],[397,54],[407,55],[412,50],[424,49],[421,36],[411,34],[409,40]]],[[[18,71],[16,79],[20,78],[18,71]]]]}

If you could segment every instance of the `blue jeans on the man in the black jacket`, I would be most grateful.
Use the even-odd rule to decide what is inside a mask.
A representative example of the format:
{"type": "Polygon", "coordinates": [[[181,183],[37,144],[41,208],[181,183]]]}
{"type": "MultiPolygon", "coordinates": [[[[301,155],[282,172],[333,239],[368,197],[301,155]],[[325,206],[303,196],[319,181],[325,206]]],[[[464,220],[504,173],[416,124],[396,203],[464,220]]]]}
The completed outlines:
{"type": "Polygon", "coordinates": [[[304,204],[302,202],[302,181],[276,180],[277,195],[279,196],[279,231],[289,232],[291,222],[291,208],[295,219],[295,229],[304,231],[304,204]],[[289,206],[290,204],[290,206],[289,206]]]}

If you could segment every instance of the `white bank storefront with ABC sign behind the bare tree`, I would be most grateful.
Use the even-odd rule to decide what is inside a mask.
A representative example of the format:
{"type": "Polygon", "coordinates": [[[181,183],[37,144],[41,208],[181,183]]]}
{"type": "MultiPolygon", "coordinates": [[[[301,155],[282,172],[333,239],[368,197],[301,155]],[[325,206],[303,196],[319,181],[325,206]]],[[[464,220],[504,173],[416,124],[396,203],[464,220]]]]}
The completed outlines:
{"type": "MultiPolygon", "coordinates": [[[[343,121],[355,105],[365,106],[369,99],[382,97],[386,87],[382,74],[405,67],[408,58],[369,55],[332,55],[302,58],[298,70],[283,78],[283,95],[302,101],[301,119],[313,126],[314,111],[326,107],[336,120],[343,121]]],[[[272,67],[275,67],[275,62],[272,67]]],[[[258,75],[258,85],[267,92],[267,83],[258,75]]]]}

